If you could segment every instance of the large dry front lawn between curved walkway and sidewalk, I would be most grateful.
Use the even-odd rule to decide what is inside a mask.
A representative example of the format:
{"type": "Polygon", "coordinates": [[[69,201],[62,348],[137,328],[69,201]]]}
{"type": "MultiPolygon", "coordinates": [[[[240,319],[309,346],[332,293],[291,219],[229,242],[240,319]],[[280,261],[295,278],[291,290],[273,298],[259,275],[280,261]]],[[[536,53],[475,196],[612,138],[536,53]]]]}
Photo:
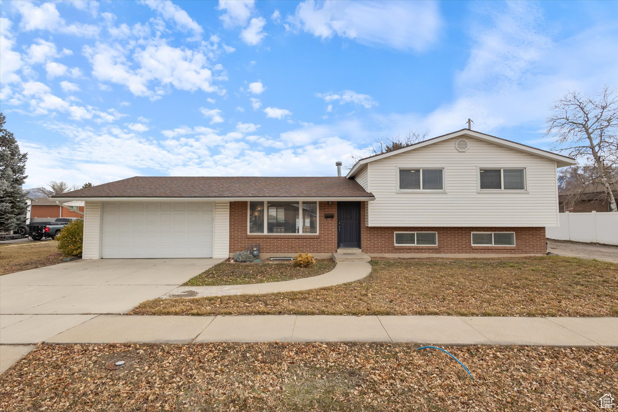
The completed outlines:
{"type": "Polygon", "coordinates": [[[153,299],[132,314],[616,316],[618,264],[520,260],[373,260],[363,280],[302,292],[153,299]]]}

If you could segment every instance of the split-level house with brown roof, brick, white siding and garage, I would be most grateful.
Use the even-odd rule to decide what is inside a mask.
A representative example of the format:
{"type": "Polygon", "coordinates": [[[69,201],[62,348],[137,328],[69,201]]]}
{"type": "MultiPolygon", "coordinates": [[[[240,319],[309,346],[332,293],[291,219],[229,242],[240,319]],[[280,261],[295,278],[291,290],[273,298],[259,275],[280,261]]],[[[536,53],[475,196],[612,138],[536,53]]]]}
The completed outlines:
{"type": "Polygon", "coordinates": [[[571,158],[463,129],[358,161],[346,177],[135,177],[68,192],[83,257],[544,254],[571,158]]]}

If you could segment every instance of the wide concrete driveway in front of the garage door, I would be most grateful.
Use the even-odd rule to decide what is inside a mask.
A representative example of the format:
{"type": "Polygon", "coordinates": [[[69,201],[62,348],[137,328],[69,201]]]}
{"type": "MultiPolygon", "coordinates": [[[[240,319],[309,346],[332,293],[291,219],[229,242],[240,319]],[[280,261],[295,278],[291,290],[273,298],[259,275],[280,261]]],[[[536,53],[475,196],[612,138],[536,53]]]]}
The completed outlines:
{"type": "Polygon", "coordinates": [[[223,259],[77,260],[0,276],[0,314],[119,314],[223,259]]]}

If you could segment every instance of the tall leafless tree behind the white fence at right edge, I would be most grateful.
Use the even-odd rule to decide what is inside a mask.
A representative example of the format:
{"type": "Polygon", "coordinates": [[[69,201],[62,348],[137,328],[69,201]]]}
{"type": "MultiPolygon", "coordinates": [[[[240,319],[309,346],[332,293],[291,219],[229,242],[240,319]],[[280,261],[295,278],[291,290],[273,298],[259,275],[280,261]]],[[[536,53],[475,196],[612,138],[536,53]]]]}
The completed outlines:
{"type": "Polygon", "coordinates": [[[596,96],[574,90],[554,103],[545,135],[552,135],[554,148],[596,166],[612,212],[618,212],[608,170],[618,166],[618,96],[604,87],[596,96]]]}

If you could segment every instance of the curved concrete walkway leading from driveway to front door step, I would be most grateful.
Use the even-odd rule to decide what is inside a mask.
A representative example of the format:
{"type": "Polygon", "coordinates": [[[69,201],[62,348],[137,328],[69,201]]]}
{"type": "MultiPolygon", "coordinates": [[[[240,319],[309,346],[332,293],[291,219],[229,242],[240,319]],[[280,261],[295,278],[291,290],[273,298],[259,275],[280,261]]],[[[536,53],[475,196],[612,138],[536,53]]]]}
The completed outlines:
{"type": "Polygon", "coordinates": [[[281,282],[250,283],[249,285],[179,286],[164,294],[161,298],[201,298],[203,296],[294,292],[361,280],[368,276],[369,273],[371,273],[371,265],[367,262],[338,262],[331,272],[310,278],[281,282]]]}

